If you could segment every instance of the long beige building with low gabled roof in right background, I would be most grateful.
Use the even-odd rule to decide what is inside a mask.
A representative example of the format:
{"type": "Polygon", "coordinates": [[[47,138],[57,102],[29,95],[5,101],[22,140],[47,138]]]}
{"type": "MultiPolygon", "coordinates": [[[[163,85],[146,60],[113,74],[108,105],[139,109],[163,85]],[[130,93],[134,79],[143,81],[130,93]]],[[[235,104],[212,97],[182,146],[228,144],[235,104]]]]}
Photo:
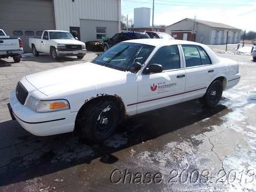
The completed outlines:
{"type": "Polygon", "coordinates": [[[226,24],[208,22],[206,20],[185,18],[179,22],[167,26],[165,32],[173,37],[182,40],[188,39],[191,34],[195,34],[195,41],[206,45],[236,44],[241,38],[241,29],[226,24]],[[228,31],[228,36],[227,36],[228,31]]]}

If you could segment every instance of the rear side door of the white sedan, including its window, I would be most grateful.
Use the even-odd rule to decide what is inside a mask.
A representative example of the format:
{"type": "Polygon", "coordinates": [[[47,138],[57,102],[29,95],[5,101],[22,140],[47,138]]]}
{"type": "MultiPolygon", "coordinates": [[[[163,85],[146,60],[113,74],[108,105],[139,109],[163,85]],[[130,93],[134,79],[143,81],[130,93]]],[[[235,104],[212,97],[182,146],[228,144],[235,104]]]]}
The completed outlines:
{"type": "Polygon", "coordinates": [[[185,60],[186,85],[184,99],[202,97],[210,82],[214,67],[205,50],[196,45],[182,45],[185,60]]]}

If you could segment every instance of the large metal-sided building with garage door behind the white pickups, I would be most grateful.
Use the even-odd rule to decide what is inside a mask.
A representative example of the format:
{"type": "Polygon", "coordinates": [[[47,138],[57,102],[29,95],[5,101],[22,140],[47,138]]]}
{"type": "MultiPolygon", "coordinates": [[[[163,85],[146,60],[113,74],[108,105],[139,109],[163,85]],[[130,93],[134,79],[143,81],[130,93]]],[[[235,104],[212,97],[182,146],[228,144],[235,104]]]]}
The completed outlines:
{"type": "Polygon", "coordinates": [[[0,0],[0,29],[24,41],[43,30],[70,31],[80,40],[102,40],[120,31],[121,0],[0,0]]]}

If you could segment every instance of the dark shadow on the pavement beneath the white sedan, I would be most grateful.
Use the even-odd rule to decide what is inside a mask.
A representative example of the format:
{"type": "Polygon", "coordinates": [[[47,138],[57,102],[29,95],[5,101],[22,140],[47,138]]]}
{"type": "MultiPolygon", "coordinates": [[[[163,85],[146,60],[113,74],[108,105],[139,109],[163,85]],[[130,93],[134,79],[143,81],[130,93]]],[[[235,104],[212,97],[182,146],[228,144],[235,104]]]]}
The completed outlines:
{"type": "Polygon", "coordinates": [[[170,137],[171,142],[210,131],[203,129],[209,123],[202,120],[210,117],[218,124],[229,111],[224,105],[206,110],[196,100],[168,106],[130,117],[102,143],[81,140],[76,133],[37,137],[16,121],[5,121],[0,123],[0,186],[90,164],[96,158],[102,163],[115,163],[119,160],[113,155],[115,152],[152,139],[161,145],[158,137],[162,135],[179,132],[181,136],[170,137]],[[195,129],[189,129],[189,125],[195,129]]]}

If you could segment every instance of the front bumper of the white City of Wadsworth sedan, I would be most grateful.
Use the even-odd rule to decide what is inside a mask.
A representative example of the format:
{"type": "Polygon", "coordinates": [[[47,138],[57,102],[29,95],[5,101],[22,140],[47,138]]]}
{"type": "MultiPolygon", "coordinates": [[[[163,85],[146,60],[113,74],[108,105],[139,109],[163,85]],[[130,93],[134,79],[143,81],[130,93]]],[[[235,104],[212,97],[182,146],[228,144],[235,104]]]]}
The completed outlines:
{"type": "Polygon", "coordinates": [[[49,136],[74,131],[77,112],[69,110],[37,113],[22,105],[16,98],[15,91],[11,92],[8,106],[10,115],[28,132],[37,136],[49,136]]]}

